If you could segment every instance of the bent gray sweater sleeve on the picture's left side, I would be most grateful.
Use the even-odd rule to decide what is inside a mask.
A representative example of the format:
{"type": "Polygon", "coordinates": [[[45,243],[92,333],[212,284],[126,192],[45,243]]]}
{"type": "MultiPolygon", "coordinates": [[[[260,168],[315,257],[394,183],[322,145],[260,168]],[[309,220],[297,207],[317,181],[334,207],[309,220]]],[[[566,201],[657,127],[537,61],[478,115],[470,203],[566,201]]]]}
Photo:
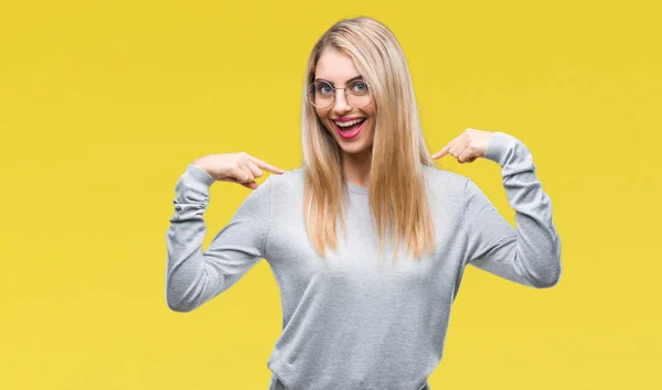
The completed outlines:
{"type": "Polygon", "coordinates": [[[189,164],[175,185],[174,216],[166,234],[168,262],[166,302],[175,312],[190,312],[236,283],[265,257],[270,223],[270,176],[244,199],[206,251],[203,214],[214,178],[189,164]]]}

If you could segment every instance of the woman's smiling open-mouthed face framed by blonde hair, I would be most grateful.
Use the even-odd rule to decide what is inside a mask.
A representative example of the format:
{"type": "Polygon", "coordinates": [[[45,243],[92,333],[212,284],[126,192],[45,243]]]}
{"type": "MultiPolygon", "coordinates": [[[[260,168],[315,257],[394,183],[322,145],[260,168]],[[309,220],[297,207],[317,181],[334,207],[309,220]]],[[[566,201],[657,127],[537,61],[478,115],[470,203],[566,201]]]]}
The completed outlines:
{"type": "MultiPolygon", "coordinates": [[[[333,48],[321,54],[314,72],[316,80],[325,80],[335,88],[351,87],[356,91],[366,87],[365,84],[355,83],[355,78],[360,76],[352,57],[333,48]]],[[[375,98],[373,96],[367,106],[356,108],[350,106],[344,91],[345,89],[337,89],[333,105],[328,108],[316,107],[317,115],[344,153],[367,153],[372,148],[375,128],[375,98]],[[355,120],[362,122],[346,126],[355,120]],[[353,136],[356,131],[359,133],[353,136]]],[[[348,95],[350,94],[348,90],[348,95]]]]}

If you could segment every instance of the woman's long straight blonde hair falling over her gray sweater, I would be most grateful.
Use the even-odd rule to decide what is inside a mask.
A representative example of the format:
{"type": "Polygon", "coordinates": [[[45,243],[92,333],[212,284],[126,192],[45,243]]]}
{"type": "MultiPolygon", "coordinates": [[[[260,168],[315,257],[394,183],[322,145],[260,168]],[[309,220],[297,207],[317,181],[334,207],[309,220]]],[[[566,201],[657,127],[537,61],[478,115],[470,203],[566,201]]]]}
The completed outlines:
{"type": "MultiPolygon", "coordinates": [[[[371,86],[376,104],[371,153],[369,204],[377,228],[380,249],[392,234],[395,252],[399,238],[419,258],[435,249],[434,224],[426,196],[423,165],[434,166],[428,154],[412,76],[395,35],[367,17],[333,24],[316,43],[306,71],[301,109],[303,145],[303,204],[306,228],[314,249],[325,256],[325,245],[338,248],[338,219],[345,230],[348,202],[340,147],[306,97],[316,65],[327,48],[352,57],[371,86]]],[[[394,252],[394,253],[395,253],[394,252]]]]}

